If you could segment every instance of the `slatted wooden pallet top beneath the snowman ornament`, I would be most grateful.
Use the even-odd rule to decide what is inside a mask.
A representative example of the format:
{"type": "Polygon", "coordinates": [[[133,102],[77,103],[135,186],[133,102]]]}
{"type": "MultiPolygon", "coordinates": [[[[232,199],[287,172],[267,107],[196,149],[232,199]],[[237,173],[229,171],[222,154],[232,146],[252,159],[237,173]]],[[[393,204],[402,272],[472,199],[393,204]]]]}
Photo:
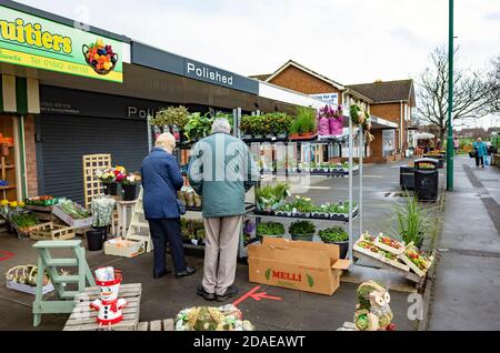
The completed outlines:
{"type": "Polygon", "coordinates": [[[141,292],[140,283],[122,284],[118,296],[127,301],[123,321],[111,326],[99,326],[98,312],[90,309],[90,303],[99,299],[100,288],[87,288],[74,297],[76,305],[63,331],[136,331],[139,323],[141,292]]]}

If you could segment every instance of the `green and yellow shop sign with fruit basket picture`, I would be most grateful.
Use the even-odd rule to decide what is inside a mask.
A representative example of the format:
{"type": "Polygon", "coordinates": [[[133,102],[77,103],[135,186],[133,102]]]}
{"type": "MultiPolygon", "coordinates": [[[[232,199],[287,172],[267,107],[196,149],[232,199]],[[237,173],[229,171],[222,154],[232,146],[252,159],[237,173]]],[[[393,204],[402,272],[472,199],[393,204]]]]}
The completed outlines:
{"type": "Polygon", "coordinates": [[[122,82],[123,46],[0,6],[0,62],[122,82]]]}

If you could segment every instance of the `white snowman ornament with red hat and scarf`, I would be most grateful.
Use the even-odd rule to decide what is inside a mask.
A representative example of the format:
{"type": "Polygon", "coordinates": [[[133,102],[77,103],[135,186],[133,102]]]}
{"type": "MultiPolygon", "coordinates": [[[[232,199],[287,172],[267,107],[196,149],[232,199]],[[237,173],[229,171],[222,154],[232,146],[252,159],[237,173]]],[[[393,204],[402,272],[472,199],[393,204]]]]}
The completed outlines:
{"type": "Polygon", "coordinates": [[[96,284],[100,288],[100,299],[90,303],[90,307],[99,311],[97,317],[99,326],[111,326],[123,320],[122,309],[127,305],[127,301],[118,299],[121,280],[121,273],[113,268],[96,270],[96,284]]]}

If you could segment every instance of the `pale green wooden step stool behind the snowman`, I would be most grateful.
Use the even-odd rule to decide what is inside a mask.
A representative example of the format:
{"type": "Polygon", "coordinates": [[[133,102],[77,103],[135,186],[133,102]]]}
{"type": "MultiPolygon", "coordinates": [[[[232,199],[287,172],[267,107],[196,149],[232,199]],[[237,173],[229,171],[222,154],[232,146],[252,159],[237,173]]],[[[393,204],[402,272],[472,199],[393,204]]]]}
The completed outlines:
{"type": "Polygon", "coordinates": [[[38,250],[38,276],[37,292],[33,302],[33,326],[41,323],[42,314],[61,314],[71,313],[74,307],[73,299],[78,293],[84,290],[86,283],[96,285],[92,273],[86,259],[86,250],[80,246],[81,240],[51,240],[39,241],[33,248],[38,250]],[[50,250],[71,249],[74,258],[56,259],[50,254],[50,250]],[[62,275],[58,272],[58,268],[77,268],[78,274],[62,275]],[[43,301],[43,276],[44,272],[52,282],[59,301],[43,301]],[[77,283],[77,291],[67,291],[66,283],[77,283]]]}

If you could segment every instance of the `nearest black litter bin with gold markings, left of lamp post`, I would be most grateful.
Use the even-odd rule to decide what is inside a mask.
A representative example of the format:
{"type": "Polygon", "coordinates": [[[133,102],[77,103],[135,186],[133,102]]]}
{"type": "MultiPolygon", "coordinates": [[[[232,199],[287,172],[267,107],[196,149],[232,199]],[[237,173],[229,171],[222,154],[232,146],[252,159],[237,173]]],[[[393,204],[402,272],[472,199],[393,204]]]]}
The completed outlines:
{"type": "Polygon", "coordinates": [[[438,200],[439,161],[423,158],[414,161],[414,193],[419,201],[438,200]]]}

